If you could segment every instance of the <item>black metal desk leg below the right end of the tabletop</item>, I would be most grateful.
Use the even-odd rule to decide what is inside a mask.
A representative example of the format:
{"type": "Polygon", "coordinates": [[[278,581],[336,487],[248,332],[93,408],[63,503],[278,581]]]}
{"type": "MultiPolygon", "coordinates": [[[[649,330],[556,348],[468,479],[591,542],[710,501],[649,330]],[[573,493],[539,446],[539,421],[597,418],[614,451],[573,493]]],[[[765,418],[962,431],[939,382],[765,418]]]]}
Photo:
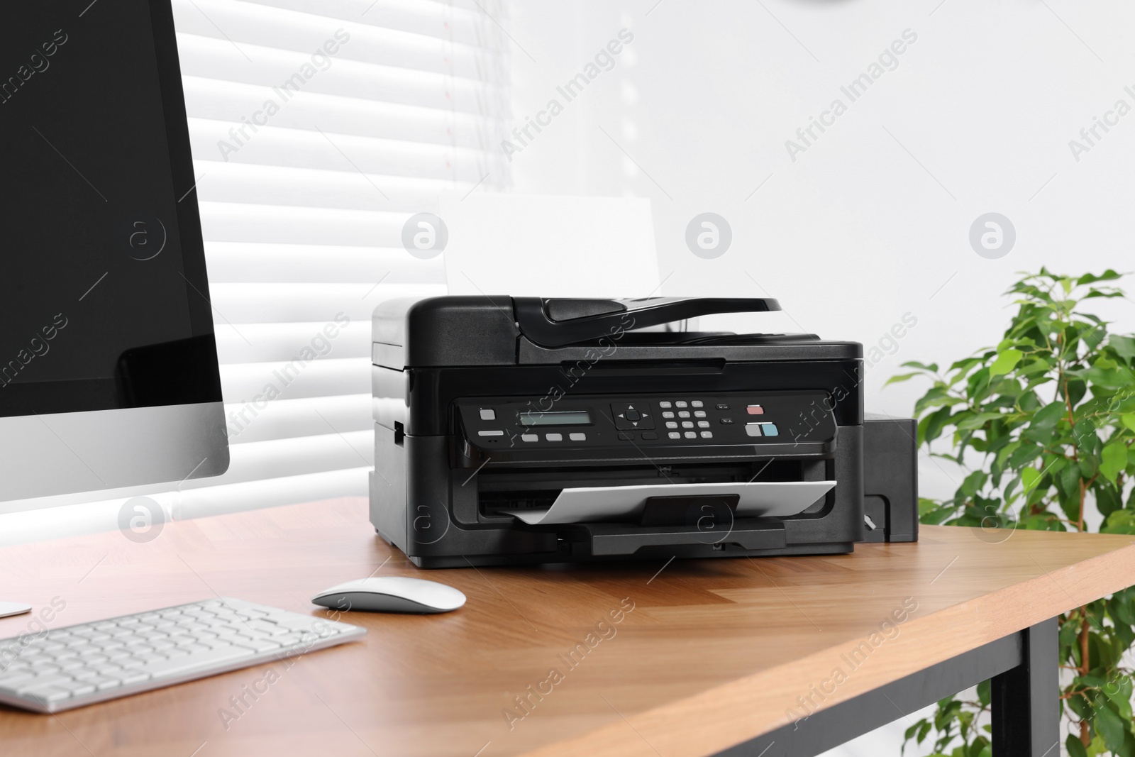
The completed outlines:
{"type": "Polygon", "coordinates": [[[993,676],[993,757],[1060,755],[1057,619],[1022,631],[1020,665],[993,676]]]}

